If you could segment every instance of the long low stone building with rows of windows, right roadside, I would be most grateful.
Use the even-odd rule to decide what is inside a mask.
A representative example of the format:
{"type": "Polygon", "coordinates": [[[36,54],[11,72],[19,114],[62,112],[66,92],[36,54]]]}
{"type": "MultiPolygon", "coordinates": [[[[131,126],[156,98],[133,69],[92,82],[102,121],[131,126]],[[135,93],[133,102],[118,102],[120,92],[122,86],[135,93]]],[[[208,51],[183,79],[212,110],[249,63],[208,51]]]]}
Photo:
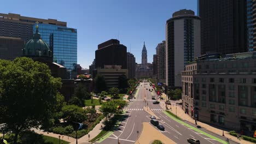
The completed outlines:
{"type": "Polygon", "coordinates": [[[254,133],[256,52],[201,59],[182,72],[183,110],[201,122],[254,133]]]}

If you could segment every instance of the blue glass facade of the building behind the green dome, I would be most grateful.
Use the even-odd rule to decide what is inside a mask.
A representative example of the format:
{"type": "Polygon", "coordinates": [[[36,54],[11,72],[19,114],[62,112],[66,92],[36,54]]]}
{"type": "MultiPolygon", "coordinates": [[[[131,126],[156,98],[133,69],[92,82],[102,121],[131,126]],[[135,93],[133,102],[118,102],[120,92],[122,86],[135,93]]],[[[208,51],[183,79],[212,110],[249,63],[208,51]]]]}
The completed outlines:
{"type": "MultiPolygon", "coordinates": [[[[53,61],[63,65],[70,72],[71,79],[77,71],[77,29],[40,23],[42,39],[53,49],[53,61]]],[[[36,25],[33,26],[36,32],[36,25]]]]}

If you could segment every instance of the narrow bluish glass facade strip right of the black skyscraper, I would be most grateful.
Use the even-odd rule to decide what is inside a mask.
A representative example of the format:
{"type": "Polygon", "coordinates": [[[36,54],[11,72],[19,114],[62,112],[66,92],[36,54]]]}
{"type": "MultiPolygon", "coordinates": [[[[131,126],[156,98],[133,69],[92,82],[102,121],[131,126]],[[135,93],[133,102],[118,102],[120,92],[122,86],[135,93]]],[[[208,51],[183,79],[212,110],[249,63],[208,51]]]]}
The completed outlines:
{"type": "Polygon", "coordinates": [[[247,48],[253,51],[253,1],[247,0],[247,48]]]}

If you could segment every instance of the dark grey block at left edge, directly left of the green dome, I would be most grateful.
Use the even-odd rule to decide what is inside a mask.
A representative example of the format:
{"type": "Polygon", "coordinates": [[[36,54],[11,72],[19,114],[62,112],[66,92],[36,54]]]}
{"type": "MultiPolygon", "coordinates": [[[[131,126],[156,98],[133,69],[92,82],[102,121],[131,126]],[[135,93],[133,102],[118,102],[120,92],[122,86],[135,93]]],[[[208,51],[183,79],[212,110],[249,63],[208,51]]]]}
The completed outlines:
{"type": "Polygon", "coordinates": [[[0,37],[0,59],[13,61],[22,56],[22,48],[25,41],[21,38],[0,37]]]}

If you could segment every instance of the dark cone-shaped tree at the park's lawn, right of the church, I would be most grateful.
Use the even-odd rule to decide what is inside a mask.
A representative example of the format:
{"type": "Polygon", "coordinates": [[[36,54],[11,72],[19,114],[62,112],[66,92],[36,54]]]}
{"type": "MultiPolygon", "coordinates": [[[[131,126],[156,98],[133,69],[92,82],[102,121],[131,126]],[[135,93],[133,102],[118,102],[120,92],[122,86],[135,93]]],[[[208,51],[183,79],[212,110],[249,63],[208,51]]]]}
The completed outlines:
{"type": "Polygon", "coordinates": [[[88,93],[84,85],[82,83],[79,83],[78,86],[75,87],[74,97],[78,97],[80,100],[84,100],[90,99],[91,95],[90,93],[88,93]]]}

